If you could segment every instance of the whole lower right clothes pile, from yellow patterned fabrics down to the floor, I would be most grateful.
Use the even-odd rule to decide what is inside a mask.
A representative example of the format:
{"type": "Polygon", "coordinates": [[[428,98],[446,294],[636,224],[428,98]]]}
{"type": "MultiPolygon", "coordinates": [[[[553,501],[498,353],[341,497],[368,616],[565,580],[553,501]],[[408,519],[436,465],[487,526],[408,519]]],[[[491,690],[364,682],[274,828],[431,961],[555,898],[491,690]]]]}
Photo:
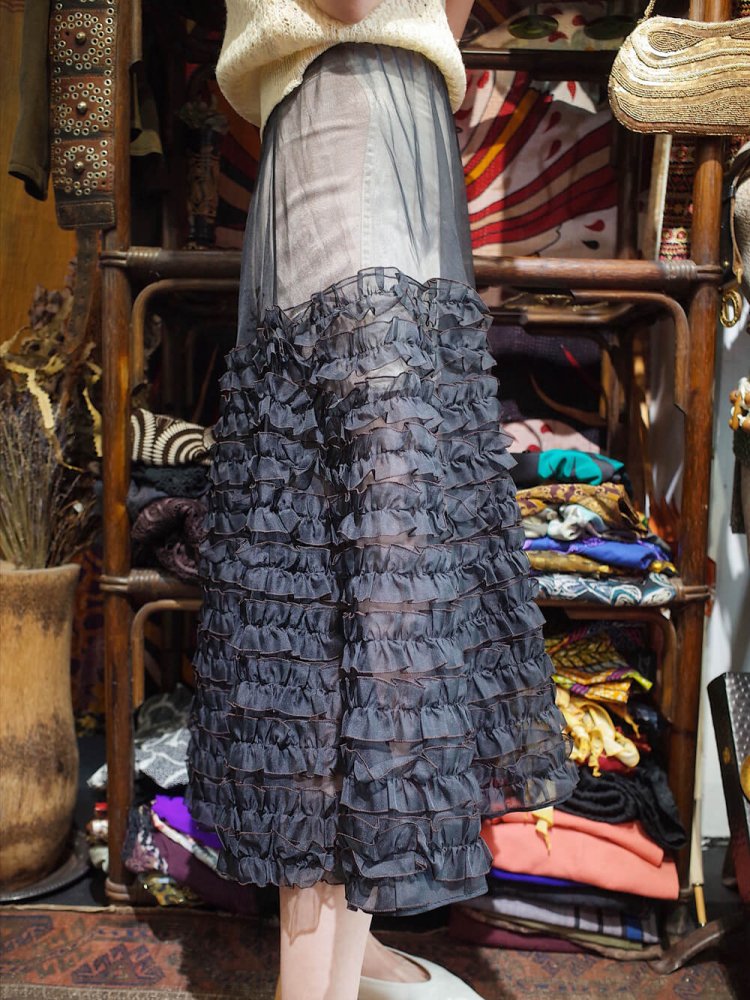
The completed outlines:
{"type": "Polygon", "coordinates": [[[451,930],[474,944],[652,958],[686,835],[653,749],[661,723],[647,697],[648,631],[550,618],[545,643],[579,784],[554,808],[484,824],[490,891],[453,907],[451,930]]]}

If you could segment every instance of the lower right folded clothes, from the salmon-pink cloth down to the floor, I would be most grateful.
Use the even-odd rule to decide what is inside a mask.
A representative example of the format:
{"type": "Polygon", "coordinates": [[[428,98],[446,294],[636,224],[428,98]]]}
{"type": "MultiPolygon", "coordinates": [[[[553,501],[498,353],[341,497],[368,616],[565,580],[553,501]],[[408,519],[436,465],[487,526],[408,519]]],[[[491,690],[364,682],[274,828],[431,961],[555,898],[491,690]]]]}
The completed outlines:
{"type": "Polygon", "coordinates": [[[486,823],[483,836],[493,859],[490,891],[451,908],[454,936],[625,960],[659,954],[653,901],[677,898],[677,870],[638,822],[542,810],[486,823]]]}

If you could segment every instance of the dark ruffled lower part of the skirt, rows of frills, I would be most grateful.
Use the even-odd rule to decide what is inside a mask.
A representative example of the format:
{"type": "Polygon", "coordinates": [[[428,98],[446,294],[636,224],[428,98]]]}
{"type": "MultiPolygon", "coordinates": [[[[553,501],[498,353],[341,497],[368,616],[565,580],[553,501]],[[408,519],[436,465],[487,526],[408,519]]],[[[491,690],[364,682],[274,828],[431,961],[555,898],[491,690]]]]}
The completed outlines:
{"type": "Polygon", "coordinates": [[[574,787],[487,326],[470,287],[373,268],[228,356],[189,798],[237,881],[459,902],[482,818],[574,787]]]}

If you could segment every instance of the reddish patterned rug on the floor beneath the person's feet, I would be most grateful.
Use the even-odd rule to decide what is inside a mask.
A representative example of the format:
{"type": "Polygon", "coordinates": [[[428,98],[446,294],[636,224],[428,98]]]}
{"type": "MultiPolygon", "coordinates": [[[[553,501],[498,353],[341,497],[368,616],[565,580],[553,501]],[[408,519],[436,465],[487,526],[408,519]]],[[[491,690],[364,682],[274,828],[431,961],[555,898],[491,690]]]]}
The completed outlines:
{"type": "MultiPolygon", "coordinates": [[[[3,1000],[271,1000],[278,930],[240,917],[172,910],[0,912],[3,1000]]],[[[737,967],[700,961],[672,976],[644,962],[500,951],[444,930],[383,932],[383,940],[449,967],[487,1000],[740,997],[737,967]]]]}

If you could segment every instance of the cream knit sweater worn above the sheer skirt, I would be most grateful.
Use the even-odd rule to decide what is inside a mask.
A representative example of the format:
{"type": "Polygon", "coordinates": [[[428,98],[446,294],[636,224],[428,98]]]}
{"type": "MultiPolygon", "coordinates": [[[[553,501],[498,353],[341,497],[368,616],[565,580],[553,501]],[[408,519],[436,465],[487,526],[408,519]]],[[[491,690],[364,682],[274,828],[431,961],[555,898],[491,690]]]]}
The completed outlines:
{"type": "Polygon", "coordinates": [[[243,118],[263,128],[282,98],[326,49],[374,42],[421,52],[442,71],[455,111],[466,74],[443,0],[381,0],[357,24],[324,14],[313,0],[226,0],[227,28],[216,78],[243,118]]]}

